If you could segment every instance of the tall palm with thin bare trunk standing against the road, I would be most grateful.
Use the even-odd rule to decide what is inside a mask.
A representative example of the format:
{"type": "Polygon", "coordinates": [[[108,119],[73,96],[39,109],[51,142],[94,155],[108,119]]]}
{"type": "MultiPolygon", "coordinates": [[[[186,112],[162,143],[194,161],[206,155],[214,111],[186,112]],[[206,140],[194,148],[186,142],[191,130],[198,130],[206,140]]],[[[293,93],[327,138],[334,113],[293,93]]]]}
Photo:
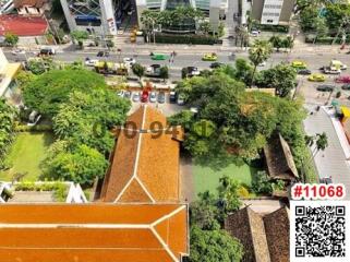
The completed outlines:
{"type": "Polygon", "coordinates": [[[255,40],[253,46],[249,50],[249,59],[254,64],[251,87],[253,86],[254,76],[256,72],[256,68],[262,62],[266,61],[273,52],[271,44],[267,40],[255,40]]]}

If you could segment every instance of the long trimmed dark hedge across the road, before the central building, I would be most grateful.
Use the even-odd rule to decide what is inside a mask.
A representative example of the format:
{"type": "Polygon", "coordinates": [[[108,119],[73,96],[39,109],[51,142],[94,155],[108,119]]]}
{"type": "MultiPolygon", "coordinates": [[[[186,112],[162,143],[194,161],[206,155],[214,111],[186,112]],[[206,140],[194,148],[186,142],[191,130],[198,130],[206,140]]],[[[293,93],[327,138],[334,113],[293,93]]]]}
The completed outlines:
{"type": "Polygon", "coordinates": [[[215,45],[215,44],[221,44],[222,40],[214,36],[204,36],[204,35],[156,34],[156,43],[215,45]]]}

